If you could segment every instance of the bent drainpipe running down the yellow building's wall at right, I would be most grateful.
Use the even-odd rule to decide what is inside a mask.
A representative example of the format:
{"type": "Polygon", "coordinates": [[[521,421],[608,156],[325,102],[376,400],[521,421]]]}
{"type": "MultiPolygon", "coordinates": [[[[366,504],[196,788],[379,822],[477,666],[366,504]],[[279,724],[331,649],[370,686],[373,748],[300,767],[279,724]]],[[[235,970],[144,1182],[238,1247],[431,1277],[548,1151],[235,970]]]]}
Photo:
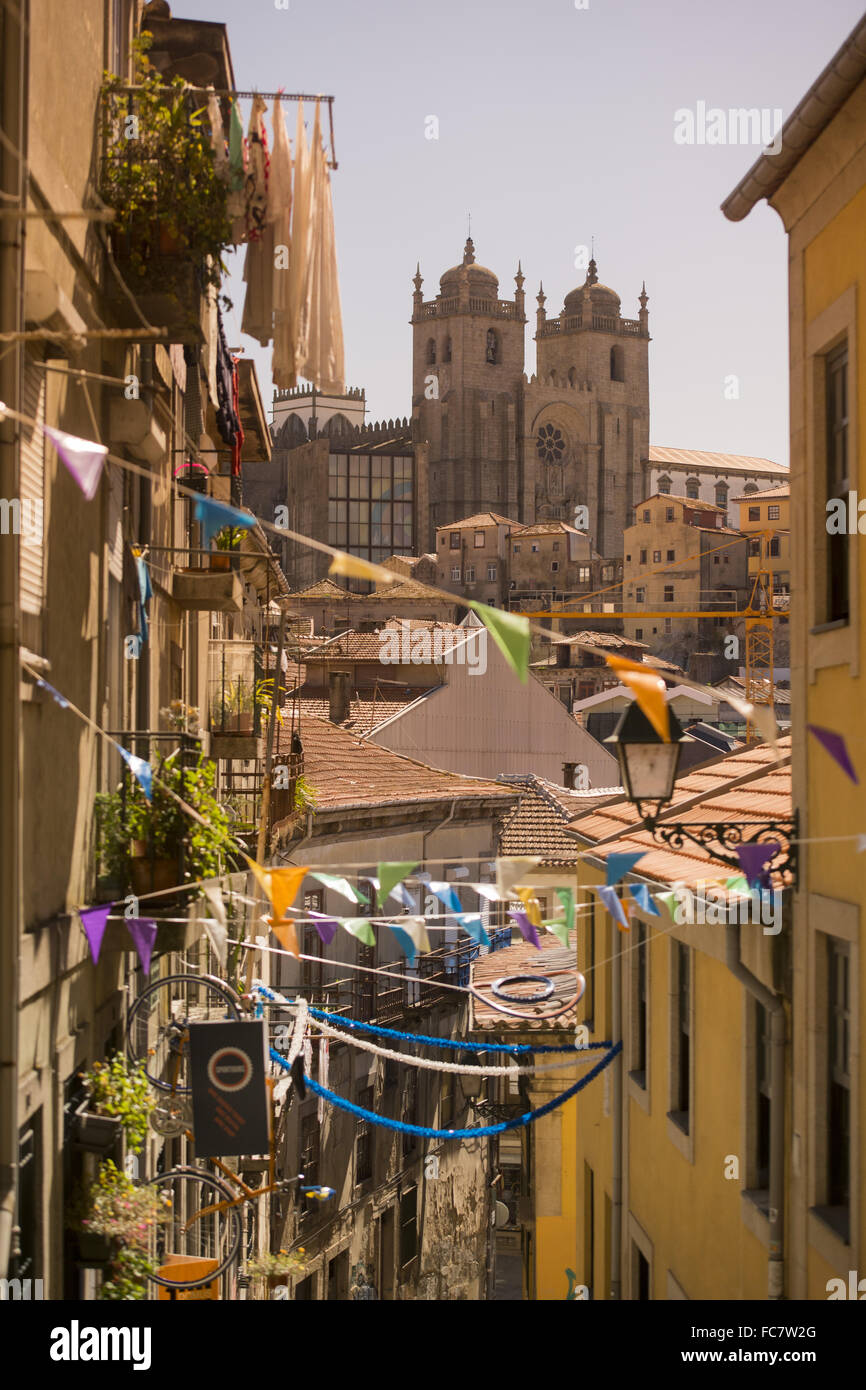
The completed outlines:
{"type": "Polygon", "coordinates": [[[770,1016],[770,1254],[767,1298],[784,1298],[784,1179],[785,1179],[785,1009],[740,959],[740,923],[726,927],[726,965],[735,980],[765,1006],[770,1016]]]}

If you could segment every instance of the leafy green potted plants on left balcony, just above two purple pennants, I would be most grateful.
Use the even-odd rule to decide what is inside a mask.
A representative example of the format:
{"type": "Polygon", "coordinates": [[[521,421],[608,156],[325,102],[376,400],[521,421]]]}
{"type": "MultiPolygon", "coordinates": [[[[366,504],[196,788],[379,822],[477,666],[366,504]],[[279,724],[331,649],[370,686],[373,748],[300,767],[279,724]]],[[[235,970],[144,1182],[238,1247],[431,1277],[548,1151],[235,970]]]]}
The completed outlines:
{"type": "Polygon", "coordinates": [[[215,796],[215,764],[203,755],[195,766],[181,767],[172,753],[154,764],[150,802],[132,777],[125,788],[121,784],[108,795],[97,795],[97,855],[106,870],[128,884],[131,841],[139,840],[154,859],[177,859],[182,847],[185,881],[217,877],[224,856],[238,847],[228,833],[228,815],[215,796]],[[193,820],[165,787],[197,810],[204,824],[193,820]]]}

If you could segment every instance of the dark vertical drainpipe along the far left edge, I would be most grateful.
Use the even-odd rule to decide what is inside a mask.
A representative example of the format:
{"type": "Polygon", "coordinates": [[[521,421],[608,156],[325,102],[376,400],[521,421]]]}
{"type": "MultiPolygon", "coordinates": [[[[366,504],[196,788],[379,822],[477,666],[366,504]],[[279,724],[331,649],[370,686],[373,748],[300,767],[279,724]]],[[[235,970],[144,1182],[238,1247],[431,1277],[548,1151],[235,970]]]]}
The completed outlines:
{"type": "MultiPolygon", "coordinates": [[[[0,188],[8,210],[26,206],[25,90],[29,6],[6,6],[0,57],[0,188]]],[[[24,328],[24,228],[15,217],[0,220],[0,329],[24,328]]],[[[0,400],[19,409],[21,360],[17,345],[0,359],[0,400]]],[[[0,496],[19,495],[19,439],[17,421],[0,423],[0,496]]],[[[15,1184],[18,1172],[18,945],[24,924],[21,866],[21,609],[18,545],[14,534],[0,546],[0,1276],[10,1273],[15,1184]]]]}

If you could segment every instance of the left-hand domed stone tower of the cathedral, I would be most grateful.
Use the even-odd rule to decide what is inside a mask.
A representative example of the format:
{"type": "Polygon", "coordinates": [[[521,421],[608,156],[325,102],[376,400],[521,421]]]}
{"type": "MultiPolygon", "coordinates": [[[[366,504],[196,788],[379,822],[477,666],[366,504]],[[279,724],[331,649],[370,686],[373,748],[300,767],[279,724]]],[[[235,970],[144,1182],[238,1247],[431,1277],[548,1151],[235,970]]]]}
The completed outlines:
{"type": "Polygon", "coordinates": [[[411,416],[430,446],[430,534],[477,512],[520,520],[518,410],[524,384],[524,275],[514,299],[499,299],[492,270],[467,239],[424,302],[420,268],[411,313],[411,416]]]}

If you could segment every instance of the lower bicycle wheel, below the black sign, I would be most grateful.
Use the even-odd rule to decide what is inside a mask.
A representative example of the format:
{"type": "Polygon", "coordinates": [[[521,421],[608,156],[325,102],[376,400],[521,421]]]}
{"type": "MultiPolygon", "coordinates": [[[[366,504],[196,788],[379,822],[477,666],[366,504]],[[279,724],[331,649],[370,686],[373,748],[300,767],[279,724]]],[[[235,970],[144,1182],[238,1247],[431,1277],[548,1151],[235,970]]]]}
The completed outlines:
{"type": "Polygon", "coordinates": [[[200,1168],[172,1168],[153,1177],[163,1215],[150,1230],[149,1255],[158,1273],[149,1277],[163,1289],[202,1289],[224,1275],[240,1248],[240,1207],[228,1184],[220,1183],[200,1168]],[[222,1209],[220,1209],[222,1204],[222,1209]],[[207,1261],[200,1277],[190,1268],[193,1261],[207,1261]],[[172,1262],[178,1276],[168,1275],[172,1262]]]}

